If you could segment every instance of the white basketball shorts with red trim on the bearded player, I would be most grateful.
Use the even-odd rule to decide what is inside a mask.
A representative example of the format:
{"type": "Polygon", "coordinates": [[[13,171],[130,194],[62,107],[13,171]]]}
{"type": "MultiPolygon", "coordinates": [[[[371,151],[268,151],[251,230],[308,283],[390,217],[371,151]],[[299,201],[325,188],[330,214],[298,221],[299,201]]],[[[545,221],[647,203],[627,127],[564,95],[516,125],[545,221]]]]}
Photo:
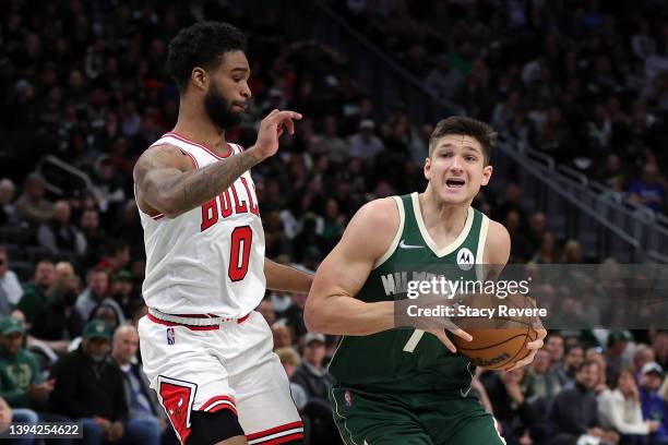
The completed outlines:
{"type": "Polygon", "coordinates": [[[229,409],[250,445],[303,437],[272,332],[259,312],[214,326],[186,326],[150,315],[139,322],[144,372],[181,443],[190,412],[229,409]]]}

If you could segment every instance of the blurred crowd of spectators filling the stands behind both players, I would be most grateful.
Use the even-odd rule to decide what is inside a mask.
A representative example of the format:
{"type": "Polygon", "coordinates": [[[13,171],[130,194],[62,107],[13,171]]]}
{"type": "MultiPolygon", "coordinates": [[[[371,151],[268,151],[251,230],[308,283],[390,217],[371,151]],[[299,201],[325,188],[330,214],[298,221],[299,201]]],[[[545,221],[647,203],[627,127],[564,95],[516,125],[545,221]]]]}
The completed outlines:
{"type": "MultiPolygon", "coordinates": [[[[660,211],[668,22],[654,3],[629,14],[595,1],[497,3],[336,5],[433,94],[660,211]]],[[[363,203],[422,190],[433,127],[416,127],[402,107],[380,120],[335,51],[287,40],[261,11],[246,20],[220,2],[10,0],[0,12],[0,426],[11,409],[15,421],[85,419],[91,441],[172,443],[138,365],[133,327],[146,308],[132,167],[176,122],[178,91],[164,72],[169,39],[204,16],[248,33],[253,99],[228,140],[250,146],[273,108],[305,115],[253,169],[266,254],[285,264],[315,270],[363,203]],[[38,163],[44,156],[90,182],[38,163]]],[[[522,194],[509,183],[474,203],[509,229],[511,262],[604,260],[559,239],[522,194]]],[[[551,282],[540,291],[573,301],[551,282]]],[[[337,338],[307,333],[305,301],[267,292],[258,310],[310,443],[338,443],[326,399],[337,338]]],[[[629,335],[551,333],[530,366],[481,374],[481,398],[508,443],[568,444],[587,433],[668,443],[668,334],[629,335]]]]}

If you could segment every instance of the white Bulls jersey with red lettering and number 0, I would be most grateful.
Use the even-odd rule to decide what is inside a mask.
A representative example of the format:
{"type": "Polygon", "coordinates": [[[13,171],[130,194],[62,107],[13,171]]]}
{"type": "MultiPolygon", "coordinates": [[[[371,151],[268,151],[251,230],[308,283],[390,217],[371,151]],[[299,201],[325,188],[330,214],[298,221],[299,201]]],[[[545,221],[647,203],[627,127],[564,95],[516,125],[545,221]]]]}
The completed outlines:
{"type": "MultiPolygon", "coordinates": [[[[175,133],[153,145],[158,144],[179,147],[194,168],[224,159],[175,133]]],[[[231,156],[242,151],[228,145],[231,156]]],[[[140,215],[146,245],[142,293],[148,308],[241,317],[260,304],[266,285],[264,231],[250,171],[214,200],[174,219],[141,209],[140,215]]]]}

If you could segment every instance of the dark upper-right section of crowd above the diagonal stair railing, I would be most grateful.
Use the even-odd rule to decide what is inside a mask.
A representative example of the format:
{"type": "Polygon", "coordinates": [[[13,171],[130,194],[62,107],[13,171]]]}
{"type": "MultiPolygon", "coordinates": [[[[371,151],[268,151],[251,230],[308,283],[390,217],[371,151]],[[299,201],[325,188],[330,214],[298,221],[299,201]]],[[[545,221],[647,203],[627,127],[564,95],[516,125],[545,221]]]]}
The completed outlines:
{"type": "Polygon", "coordinates": [[[330,3],[433,95],[605,183],[620,201],[666,211],[664,2],[330,3]]]}

